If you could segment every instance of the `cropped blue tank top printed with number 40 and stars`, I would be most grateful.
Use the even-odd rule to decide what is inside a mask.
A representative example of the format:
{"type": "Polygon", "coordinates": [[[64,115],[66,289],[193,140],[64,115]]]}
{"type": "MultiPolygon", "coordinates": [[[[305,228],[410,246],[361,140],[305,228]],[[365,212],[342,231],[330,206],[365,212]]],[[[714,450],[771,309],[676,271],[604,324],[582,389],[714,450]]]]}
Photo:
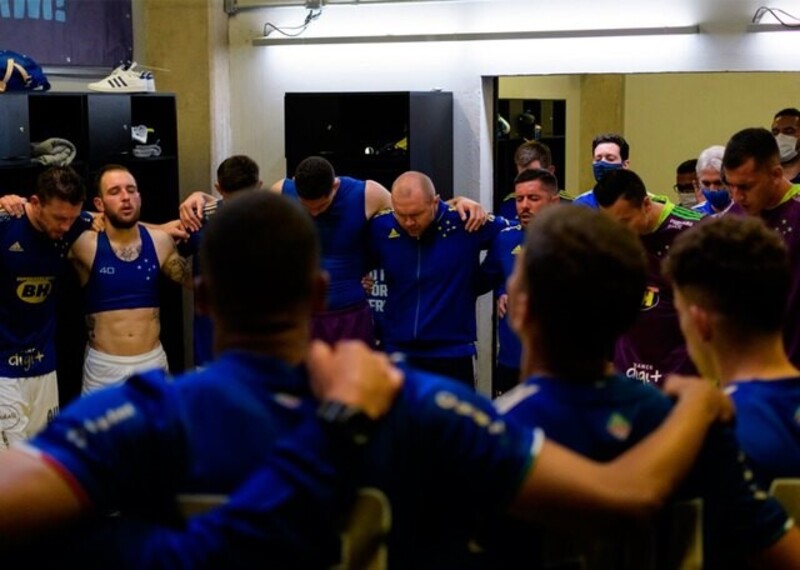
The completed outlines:
{"type": "Polygon", "coordinates": [[[160,265],[150,233],[139,226],[142,251],[132,261],[123,261],[111,249],[108,234],[97,234],[97,252],[84,289],[86,312],[158,307],[160,265]]]}

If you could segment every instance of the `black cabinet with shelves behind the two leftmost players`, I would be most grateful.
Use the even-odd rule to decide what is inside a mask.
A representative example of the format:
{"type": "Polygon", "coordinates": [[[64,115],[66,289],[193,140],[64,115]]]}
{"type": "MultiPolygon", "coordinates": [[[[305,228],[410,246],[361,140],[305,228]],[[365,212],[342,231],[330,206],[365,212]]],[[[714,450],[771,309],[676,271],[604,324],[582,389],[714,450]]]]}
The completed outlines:
{"type": "MultiPolygon", "coordinates": [[[[75,145],[71,164],[87,185],[87,209],[94,209],[94,177],[109,163],[127,167],[142,196],[142,220],[163,223],[178,215],[178,134],[172,94],[21,93],[0,95],[0,194],[32,193],[45,167],[30,159],[30,144],[63,138],[75,145]],[[137,158],[131,129],[145,125],[148,144],[161,147],[160,156],[137,158]]],[[[161,341],[170,369],[184,368],[183,294],[162,280],[161,341]]],[[[58,376],[62,404],[80,393],[86,341],[82,294],[74,275],[60,289],[58,316],[58,376]]]]}

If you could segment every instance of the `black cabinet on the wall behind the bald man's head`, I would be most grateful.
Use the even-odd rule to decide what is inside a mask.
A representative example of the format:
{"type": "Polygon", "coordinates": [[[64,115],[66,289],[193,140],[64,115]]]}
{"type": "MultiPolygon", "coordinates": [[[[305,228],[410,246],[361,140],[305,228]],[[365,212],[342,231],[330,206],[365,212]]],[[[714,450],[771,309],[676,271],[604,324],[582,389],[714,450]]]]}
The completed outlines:
{"type": "Polygon", "coordinates": [[[452,197],[452,93],[287,93],[284,111],[287,177],[318,155],[337,174],[387,188],[419,170],[443,198],[452,197]]]}

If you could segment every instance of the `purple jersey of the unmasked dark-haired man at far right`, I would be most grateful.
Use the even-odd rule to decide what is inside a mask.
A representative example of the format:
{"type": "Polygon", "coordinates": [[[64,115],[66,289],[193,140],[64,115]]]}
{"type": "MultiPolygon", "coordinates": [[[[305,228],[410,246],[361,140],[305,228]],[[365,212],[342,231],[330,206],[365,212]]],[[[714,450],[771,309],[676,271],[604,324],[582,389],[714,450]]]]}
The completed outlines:
{"type": "MultiPolygon", "coordinates": [[[[729,213],[746,215],[738,204],[733,204],[729,213]]],[[[786,321],[783,328],[783,342],[789,359],[800,366],[800,184],[792,186],[771,210],[761,212],[761,219],[783,238],[789,249],[789,262],[792,267],[792,286],[786,304],[786,321]]]]}

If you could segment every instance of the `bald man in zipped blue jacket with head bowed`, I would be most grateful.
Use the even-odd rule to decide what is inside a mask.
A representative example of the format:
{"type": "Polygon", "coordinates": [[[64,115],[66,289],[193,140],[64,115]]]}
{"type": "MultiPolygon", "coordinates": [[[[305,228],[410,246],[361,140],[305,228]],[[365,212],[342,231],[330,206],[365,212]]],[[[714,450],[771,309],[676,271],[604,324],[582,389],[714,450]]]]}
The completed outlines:
{"type": "Polygon", "coordinates": [[[474,388],[479,254],[507,223],[490,217],[466,231],[421,172],[401,174],[391,199],[392,209],[370,222],[374,261],[388,284],[383,347],[474,388]]]}

